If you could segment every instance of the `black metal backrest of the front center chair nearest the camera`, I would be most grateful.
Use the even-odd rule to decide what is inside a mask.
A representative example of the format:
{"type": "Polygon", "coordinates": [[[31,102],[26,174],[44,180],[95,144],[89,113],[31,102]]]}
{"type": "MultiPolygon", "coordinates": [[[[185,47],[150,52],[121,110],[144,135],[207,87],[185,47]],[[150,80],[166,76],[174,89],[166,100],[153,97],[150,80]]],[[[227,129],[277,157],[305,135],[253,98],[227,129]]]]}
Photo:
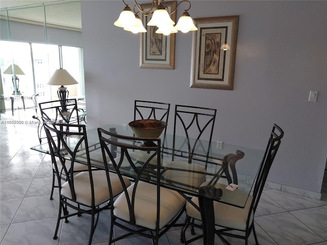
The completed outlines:
{"type": "MultiPolygon", "coordinates": [[[[139,182],[146,179],[147,182],[153,182],[156,184],[157,190],[157,213],[159,213],[160,207],[160,138],[151,138],[151,140],[157,146],[141,146],[135,145],[134,141],[148,140],[149,138],[139,138],[131,136],[123,136],[115,134],[114,132],[109,132],[104,129],[99,128],[99,139],[102,149],[102,154],[107,171],[114,171],[121,180],[122,186],[124,188],[123,193],[126,195],[128,209],[129,209],[129,223],[135,225],[135,214],[134,214],[134,199],[136,194],[136,187],[139,182]],[[114,146],[113,148],[111,146],[114,146]],[[111,149],[116,149],[115,153],[111,149]],[[141,160],[136,160],[131,153],[135,151],[140,151],[145,154],[145,158],[141,160]],[[153,163],[156,161],[156,164],[153,163]],[[124,183],[123,176],[128,176],[133,178],[133,191],[129,194],[126,184],[124,183]]],[[[108,181],[110,183],[110,181],[108,181]]],[[[111,194],[110,202],[113,203],[112,189],[109,184],[109,193],[111,194]]],[[[159,217],[159,216],[158,216],[159,217]]],[[[159,219],[159,218],[158,218],[159,219]]],[[[159,224],[159,220],[157,220],[159,224]]]]}

